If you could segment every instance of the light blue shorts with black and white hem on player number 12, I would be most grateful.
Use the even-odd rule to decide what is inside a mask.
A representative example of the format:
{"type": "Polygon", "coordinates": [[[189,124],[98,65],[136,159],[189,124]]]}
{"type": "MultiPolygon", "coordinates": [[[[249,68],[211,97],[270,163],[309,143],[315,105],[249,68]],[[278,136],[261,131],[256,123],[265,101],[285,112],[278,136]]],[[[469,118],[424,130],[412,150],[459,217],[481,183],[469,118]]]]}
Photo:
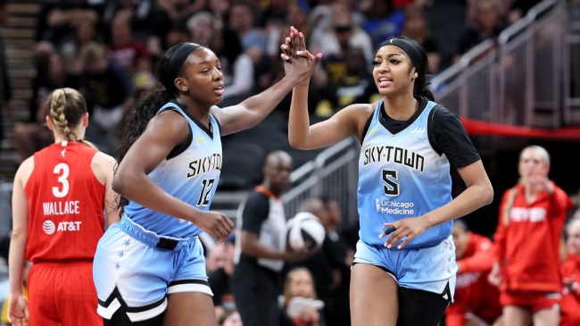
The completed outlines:
{"type": "Polygon", "coordinates": [[[197,237],[162,238],[123,217],[98,243],[93,278],[97,313],[111,319],[123,309],[131,322],[151,319],[167,308],[167,295],[201,292],[213,296],[197,237]]]}

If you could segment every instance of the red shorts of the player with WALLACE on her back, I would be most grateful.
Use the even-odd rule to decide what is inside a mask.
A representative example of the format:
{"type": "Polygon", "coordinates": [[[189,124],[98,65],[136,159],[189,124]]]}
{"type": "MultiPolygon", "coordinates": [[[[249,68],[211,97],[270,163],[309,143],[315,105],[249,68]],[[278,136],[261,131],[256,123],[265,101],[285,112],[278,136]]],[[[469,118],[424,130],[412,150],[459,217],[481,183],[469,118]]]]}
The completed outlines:
{"type": "Polygon", "coordinates": [[[35,263],[27,280],[29,326],[103,325],[93,263],[35,263]]]}

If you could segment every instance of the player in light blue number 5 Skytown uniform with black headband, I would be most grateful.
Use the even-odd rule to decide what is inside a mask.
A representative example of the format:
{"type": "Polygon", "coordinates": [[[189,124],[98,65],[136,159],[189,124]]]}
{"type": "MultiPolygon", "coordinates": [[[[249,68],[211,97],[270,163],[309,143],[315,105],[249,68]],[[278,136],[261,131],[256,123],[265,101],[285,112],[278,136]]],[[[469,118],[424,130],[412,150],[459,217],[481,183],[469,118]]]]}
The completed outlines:
{"type": "MultiPolygon", "coordinates": [[[[293,38],[283,58],[292,42],[301,44],[298,54],[313,56],[293,38]]],[[[425,50],[410,38],[390,38],[373,67],[381,100],[348,105],[312,126],[308,83],[296,86],[289,140],[300,149],[351,136],[360,142],[352,325],[435,326],[454,291],[452,220],[490,204],[493,188],[457,115],[433,102],[425,50]],[[454,199],[450,168],[467,186],[454,199]]]]}

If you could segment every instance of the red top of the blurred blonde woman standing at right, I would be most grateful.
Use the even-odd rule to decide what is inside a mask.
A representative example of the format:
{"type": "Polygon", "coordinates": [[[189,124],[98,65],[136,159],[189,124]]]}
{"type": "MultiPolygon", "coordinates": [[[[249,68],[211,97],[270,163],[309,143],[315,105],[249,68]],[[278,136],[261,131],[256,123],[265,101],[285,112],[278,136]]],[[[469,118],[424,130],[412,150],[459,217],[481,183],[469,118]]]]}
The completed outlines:
{"type": "Polygon", "coordinates": [[[494,235],[502,289],[560,292],[559,241],[571,207],[556,185],[551,195],[542,191],[532,203],[523,185],[503,194],[494,235]]]}

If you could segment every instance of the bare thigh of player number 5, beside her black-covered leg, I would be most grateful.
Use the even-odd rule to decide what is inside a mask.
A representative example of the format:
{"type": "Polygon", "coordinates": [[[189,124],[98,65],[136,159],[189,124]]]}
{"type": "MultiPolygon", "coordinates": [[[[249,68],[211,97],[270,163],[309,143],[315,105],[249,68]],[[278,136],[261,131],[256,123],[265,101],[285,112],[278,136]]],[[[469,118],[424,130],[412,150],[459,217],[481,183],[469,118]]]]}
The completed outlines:
{"type": "Polygon", "coordinates": [[[399,311],[393,275],[368,263],[356,263],[351,273],[352,326],[394,326],[399,311]]]}

